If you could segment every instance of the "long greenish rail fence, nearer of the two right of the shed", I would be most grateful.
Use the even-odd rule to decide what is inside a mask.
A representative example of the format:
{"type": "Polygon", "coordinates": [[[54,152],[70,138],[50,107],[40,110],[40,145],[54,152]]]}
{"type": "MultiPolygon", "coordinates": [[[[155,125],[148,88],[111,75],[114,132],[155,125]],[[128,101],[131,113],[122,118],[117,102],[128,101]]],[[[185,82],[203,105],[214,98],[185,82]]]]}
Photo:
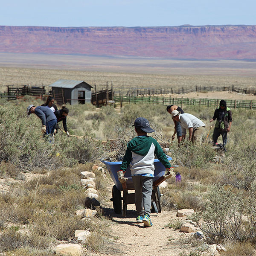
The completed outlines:
{"type": "MultiPolygon", "coordinates": [[[[182,108],[183,105],[202,105],[207,107],[218,107],[220,99],[195,99],[195,98],[173,98],[173,97],[128,97],[115,96],[115,107],[124,104],[161,104],[161,105],[178,105],[182,108]]],[[[256,109],[256,100],[240,100],[227,99],[227,106],[229,108],[249,108],[256,109]]]]}

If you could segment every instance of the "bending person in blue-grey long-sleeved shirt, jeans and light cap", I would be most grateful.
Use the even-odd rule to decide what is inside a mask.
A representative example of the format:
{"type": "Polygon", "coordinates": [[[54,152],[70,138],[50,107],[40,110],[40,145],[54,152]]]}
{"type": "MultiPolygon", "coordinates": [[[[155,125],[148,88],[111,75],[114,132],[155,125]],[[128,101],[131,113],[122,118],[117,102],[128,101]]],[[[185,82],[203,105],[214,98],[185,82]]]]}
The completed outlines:
{"type": "Polygon", "coordinates": [[[52,142],[53,133],[55,126],[57,124],[57,117],[55,114],[47,107],[38,106],[35,107],[34,105],[29,105],[27,108],[28,116],[30,114],[36,114],[42,121],[42,133],[49,135],[50,140],[52,142]]]}

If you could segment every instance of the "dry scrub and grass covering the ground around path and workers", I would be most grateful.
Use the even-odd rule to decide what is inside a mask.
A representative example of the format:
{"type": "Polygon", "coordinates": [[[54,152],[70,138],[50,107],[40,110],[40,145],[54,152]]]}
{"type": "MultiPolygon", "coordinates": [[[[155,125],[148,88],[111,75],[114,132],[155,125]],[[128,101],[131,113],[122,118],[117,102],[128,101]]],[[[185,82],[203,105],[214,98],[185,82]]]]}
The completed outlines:
{"type": "MultiPolygon", "coordinates": [[[[93,221],[81,221],[74,214],[84,208],[79,173],[101,164],[99,160],[113,151],[103,146],[102,140],[135,136],[131,125],[136,117],[143,116],[157,131],[152,137],[160,144],[169,141],[172,164],[180,166],[177,171],[182,183],[175,186],[169,181],[162,200],[164,209],[194,209],[193,221],[203,221],[208,244],[227,246],[223,255],[253,255],[249,251],[256,245],[255,111],[233,110],[227,152],[219,157],[208,143],[194,146],[185,142],[180,148],[176,140],[171,143],[174,124],[163,105],[125,105],[120,112],[112,106],[96,109],[90,104],[69,105],[69,132],[84,137],[67,137],[59,131],[52,145],[42,137],[40,119],[26,116],[31,103],[43,102],[29,96],[26,101],[0,102],[0,178],[4,185],[0,193],[0,252],[6,256],[53,256],[54,245],[60,241],[77,243],[74,231],[84,229],[91,231],[83,245],[86,255],[120,255],[114,244],[118,238],[111,236],[111,218],[104,210],[97,209],[93,221]],[[240,252],[234,249],[237,243],[240,252]]],[[[209,131],[214,109],[183,109],[203,120],[209,131]]],[[[95,174],[99,202],[104,206],[111,179],[95,174]]],[[[201,255],[200,248],[195,248],[198,254],[190,255],[201,255]]]]}

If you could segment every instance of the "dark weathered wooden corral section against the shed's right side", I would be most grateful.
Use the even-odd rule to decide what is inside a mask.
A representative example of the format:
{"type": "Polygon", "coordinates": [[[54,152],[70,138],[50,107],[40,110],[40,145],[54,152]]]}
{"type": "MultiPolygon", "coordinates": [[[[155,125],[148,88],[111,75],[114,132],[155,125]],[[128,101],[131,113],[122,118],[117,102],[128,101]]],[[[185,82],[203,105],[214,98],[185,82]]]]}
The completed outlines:
{"type": "Polygon", "coordinates": [[[111,84],[111,89],[108,89],[108,82],[105,90],[98,90],[96,84],[94,84],[95,92],[92,93],[91,102],[93,105],[102,106],[102,105],[113,105],[114,104],[114,91],[113,84],[111,84]]]}

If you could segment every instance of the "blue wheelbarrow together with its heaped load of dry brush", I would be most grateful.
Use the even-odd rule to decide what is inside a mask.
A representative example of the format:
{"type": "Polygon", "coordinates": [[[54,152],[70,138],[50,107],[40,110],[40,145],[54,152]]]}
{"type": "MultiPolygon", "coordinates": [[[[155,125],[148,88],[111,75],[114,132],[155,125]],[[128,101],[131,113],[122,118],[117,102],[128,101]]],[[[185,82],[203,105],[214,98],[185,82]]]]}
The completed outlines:
{"type": "MultiPolygon", "coordinates": [[[[157,129],[155,129],[157,130],[157,129]]],[[[112,198],[113,209],[117,214],[122,213],[123,216],[126,216],[127,205],[134,204],[134,193],[128,193],[128,190],[134,190],[134,185],[131,177],[131,170],[129,167],[126,169],[125,177],[128,178],[126,183],[120,183],[117,177],[117,172],[120,170],[122,159],[125,155],[125,151],[127,148],[127,143],[136,136],[134,130],[125,129],[125,128],[117,128],[117,134],[119,135],[115,140],[109,140],[105,145],[105,156],[101,159],[102,163],[104,163],[108,169],[108,172],[114,182],[112,188],[112,198]],[[121,196],[121,191],[123,191],[123,197],[121,196]]],[[[152,136],[153,137],[153,136],[152,136]]],[[[154,138],[159,142],[162,148],[168,148],[169,141],[163,139],[161,133],[155,133],[154,138]]],[[[168,157],[168,160],[172,160],[172,157],[168,157]]],[[[163,164],[158,160],[154,160],[154,179],[153,179],[153,191],[151,195],[152,199],[152,207],[151,212],[161,212],[161,204],[160,204],[160,190],[158,185],[162,183],[165,178],[163,175],[165,174],[166,168],[163,164]]]]}

